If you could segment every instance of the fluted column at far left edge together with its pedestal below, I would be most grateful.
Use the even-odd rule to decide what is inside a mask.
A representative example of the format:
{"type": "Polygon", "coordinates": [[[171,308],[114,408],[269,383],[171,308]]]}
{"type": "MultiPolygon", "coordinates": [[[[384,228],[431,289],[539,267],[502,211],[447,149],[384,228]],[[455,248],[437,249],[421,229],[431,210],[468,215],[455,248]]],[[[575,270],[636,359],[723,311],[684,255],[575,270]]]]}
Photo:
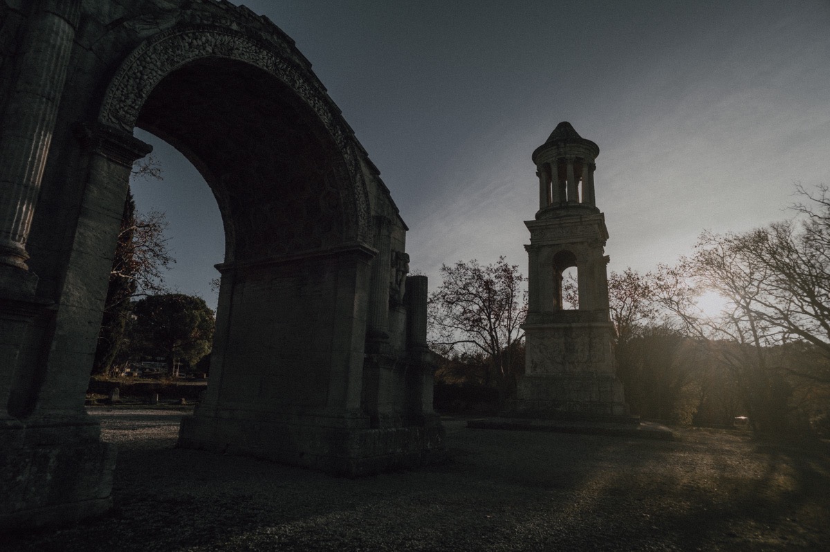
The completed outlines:
{"type": "Polygon", "coordinates": [[[7,410],[31,321],[51,301],[35,295],[25,244],[80,18],[80,0],[41,0],[29,14],[0,125],[0,449],[21,445],[7,410]]]}

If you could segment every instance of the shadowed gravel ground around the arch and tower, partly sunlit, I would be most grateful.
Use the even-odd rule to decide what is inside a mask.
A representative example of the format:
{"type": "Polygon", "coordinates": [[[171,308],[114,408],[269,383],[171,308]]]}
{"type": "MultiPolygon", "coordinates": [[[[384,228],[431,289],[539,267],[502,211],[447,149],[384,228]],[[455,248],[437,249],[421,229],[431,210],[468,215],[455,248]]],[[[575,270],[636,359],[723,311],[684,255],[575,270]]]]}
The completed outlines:
{"type": "Polygon", "coordinates": [[[183,411],[90,413],[119,446],[115,508],[0,537],[0,550],[830,550],[827,442],[704,430],[661,442],[446,418],[449,462],[344,479],[175,449],[183,411]]]}

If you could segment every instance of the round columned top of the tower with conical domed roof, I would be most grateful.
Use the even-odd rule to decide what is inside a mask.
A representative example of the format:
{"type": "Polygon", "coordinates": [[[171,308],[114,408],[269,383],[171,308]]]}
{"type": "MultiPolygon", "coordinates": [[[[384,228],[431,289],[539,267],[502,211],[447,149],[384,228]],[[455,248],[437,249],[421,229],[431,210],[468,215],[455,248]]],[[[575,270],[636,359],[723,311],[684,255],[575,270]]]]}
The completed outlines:
{"type": "Polygon", "coordinates": [[[532,155],[539,177],[536,218],[599,212],[593,186],[599,146],[562,121],[532,155]]]}

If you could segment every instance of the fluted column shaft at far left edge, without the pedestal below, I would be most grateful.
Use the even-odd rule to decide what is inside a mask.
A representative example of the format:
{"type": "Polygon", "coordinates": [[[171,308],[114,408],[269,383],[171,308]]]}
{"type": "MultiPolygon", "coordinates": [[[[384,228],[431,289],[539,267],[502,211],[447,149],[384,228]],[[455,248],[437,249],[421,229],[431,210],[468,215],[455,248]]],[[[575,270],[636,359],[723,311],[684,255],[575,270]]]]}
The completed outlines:
{"type": "Polygon", "coordinates": [[[40,0],[18,50],[0,129],[0,266],[27,270],[26,239],[80,11],[81,0],[40,0]]]}

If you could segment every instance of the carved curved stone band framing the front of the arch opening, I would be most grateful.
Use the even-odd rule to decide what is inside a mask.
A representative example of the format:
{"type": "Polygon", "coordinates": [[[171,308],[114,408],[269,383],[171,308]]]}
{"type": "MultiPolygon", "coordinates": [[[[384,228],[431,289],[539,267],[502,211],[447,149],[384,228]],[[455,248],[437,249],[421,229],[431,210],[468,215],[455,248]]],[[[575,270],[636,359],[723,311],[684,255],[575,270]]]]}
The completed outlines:
{"type": "Polygon", "coordinates": [[[336,106],[315,78],[305,74],[265,43],[221,27],[180,27],[161,32],[142,42],[121,64],[108,86],[98,120],[104,125],[133,132],[144,102],[155,86],[172,71],[190,61],[220,57],[256,66],[291,88],[309,105],[343,156],[351,180],[352,197],[344,198],[354,208],[357,238],[371,241],[369,193],[359,154],[351,132],[336,106]]]}

